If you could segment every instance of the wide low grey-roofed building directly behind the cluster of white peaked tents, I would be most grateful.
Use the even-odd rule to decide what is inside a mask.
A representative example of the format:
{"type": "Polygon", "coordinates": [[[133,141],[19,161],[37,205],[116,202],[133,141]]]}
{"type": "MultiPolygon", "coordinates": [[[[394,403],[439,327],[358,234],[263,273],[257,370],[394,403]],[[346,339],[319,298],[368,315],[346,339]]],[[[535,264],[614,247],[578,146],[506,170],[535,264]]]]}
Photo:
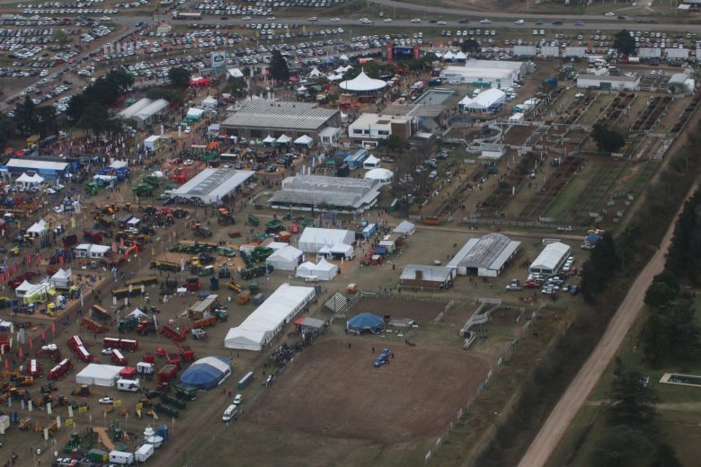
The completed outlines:
{"type": "Polygon", "coordinates": [[[377,203],[381,183],[369,179],[347,179],[321,175],[297,175],[282,181],[272,195],[272,207],[301,210],[320,205],[347,211],[363,211],[377,203]]]}

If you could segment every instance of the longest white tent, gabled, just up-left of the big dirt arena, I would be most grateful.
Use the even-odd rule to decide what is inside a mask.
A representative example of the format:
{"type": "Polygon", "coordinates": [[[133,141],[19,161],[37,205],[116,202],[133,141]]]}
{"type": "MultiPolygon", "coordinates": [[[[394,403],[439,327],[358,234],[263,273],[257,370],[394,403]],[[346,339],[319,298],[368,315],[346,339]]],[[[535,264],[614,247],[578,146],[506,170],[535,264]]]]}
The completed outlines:
{"type": "Polygon", "coordinates": [[[314,287],[282,284],[244,322],[226,333],[224,347],[261,350],[314,296],[314,287]]]}

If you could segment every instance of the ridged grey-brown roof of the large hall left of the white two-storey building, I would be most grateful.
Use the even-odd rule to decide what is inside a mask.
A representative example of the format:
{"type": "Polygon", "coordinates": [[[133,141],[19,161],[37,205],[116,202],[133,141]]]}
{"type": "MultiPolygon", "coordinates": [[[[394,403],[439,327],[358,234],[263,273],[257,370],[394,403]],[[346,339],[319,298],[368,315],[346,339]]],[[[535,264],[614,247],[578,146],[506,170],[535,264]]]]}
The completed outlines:
{"type": "Polygon", "coordinates": [[[223,127],[317,130],[327,125],[339,110],[316,104],[290,101],[244,101],[222,122],[223,127]]]}

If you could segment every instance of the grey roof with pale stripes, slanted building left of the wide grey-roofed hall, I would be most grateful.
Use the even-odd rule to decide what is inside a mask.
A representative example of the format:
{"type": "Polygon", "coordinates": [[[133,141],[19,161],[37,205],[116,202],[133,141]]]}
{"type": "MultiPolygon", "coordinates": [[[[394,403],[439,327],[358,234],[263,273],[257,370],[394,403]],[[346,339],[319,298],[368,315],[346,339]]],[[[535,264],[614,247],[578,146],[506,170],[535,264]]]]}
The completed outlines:
{"type": "Polygon", "coordinates": [[[216,203],[253,177],[253,171],[205,169],[177,189],[166,193],[172,197],[199,198],[206,204],[216,203]]]}

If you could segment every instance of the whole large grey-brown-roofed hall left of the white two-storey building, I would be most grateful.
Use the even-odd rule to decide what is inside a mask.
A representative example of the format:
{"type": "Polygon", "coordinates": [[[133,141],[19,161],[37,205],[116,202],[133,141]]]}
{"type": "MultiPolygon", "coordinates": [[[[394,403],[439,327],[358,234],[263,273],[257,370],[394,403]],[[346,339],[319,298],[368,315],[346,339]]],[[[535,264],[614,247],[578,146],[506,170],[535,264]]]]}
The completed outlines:
{"type": "Polygon", "coordinates": [[[341,127],[341,111],[324,109],[316,104],[289,101],[244,101],[221,123],[221,132],[228,136],[264,138],[281,137],[293,140],[303,135],[319,141],[326,127],[341,127]]]}

